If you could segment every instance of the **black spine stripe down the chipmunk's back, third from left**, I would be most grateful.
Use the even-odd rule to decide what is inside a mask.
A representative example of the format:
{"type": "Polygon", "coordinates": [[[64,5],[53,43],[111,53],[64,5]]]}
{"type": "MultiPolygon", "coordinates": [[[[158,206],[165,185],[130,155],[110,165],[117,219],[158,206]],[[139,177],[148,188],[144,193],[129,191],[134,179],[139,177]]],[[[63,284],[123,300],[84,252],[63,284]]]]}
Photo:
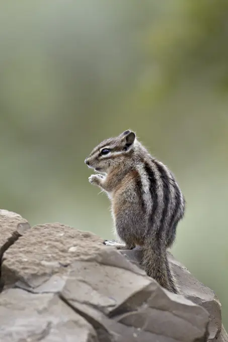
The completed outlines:
{"type": "Polygon", "coordinates": [[[161,232],[164,229],[164,225],[165,225],[166,217],[167,217],[167,213],[168,213],[168,206],[169,206],[170,200],[171,200],[171,197],[170,197],[170,178],[167,175],[165,166],[160,164],[157,160],[154,160],[154,163],[158,167],[160,177],[162,180],[162,184],[163,184],[164,209],[163,209],[163,213],[162,213],[162,220],[161,220],[161,223],[159,226],[159,230],[161,232]]]}

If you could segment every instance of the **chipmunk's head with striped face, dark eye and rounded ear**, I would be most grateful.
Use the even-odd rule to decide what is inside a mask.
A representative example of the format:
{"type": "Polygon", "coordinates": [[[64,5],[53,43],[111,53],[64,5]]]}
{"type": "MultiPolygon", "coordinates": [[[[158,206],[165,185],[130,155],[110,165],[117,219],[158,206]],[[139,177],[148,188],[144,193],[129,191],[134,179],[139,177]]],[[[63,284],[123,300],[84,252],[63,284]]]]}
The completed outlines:
{"type": "Polygon", "coordinates": [[[116,138],[102,141],[86,158],[85,163],[101,173],[110,173],[119,163],[124,162],[133,151],[135,133],[127,130],[116,138]]]}

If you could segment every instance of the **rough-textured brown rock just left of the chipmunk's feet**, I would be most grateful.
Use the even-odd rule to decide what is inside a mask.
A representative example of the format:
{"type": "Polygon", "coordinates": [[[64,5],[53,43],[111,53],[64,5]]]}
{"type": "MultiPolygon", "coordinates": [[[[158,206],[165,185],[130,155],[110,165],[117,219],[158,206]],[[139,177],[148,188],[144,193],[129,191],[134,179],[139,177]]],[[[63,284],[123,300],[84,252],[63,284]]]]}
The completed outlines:
{"type": "Polygon", "coordinates": [[[102,241],[95,234],[59,223],[35,226],[5,252],[2,279],[6,286],[19,281],[21,287],[34,291],[41,285],[43,291],[54,284],[56,289],[61,288],[58,275],[66,274],[74,260],[90,258],[97,249],[104,248],[102,241]]]}

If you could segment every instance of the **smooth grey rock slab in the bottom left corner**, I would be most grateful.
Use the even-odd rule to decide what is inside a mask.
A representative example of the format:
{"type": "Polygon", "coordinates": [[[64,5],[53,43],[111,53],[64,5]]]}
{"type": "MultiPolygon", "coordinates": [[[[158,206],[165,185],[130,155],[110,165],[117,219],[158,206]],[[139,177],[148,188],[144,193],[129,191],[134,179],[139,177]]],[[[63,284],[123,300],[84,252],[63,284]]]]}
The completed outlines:
{"type": "Polygon", "coordinates": [[[91,324],[51,293],[8,289],[0,295],[0,340],[4,342],[98,342],[91,324]]]}

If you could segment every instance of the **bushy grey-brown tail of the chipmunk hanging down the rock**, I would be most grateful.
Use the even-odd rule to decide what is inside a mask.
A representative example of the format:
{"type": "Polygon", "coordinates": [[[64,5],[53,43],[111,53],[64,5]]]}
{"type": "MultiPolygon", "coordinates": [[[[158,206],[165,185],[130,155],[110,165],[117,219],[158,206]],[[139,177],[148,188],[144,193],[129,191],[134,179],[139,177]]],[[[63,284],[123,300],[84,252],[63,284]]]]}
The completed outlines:
{"type": "Polygon", "coordinates": [[[141,268],[165,289],[179,293],[168,261],[166,247],[160,239],[149,239],[142,246],[141,268]]]}

